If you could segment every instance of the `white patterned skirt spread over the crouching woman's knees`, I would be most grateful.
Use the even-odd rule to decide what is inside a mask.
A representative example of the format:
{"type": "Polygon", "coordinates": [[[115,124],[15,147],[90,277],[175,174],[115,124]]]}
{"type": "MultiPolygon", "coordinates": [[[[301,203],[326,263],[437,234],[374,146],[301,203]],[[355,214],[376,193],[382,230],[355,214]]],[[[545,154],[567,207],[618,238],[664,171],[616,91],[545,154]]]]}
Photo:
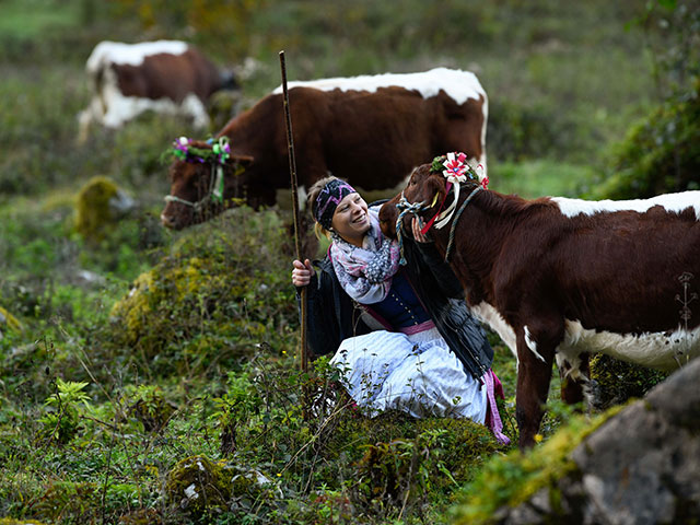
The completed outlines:
{"type": "Polygon", "coordinates": [[[371,417],[398,409],[416,418],[483,423],[487,388],[467,374],[436,328],[413,335],[377,330],[343,340],[330,360],[352,399],[371,417]]]}

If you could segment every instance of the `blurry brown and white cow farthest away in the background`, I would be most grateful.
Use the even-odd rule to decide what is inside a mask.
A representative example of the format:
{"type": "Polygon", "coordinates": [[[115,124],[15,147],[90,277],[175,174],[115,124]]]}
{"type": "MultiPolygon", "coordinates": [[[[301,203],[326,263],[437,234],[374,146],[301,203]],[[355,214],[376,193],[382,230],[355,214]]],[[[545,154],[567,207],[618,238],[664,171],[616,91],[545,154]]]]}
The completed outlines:
{"type": "Polygon", "coordinates": [[[195,127],[207,128],[208,98],[237,88],[232,72],[220,71],[198,49],[178,40],[101,42],[85,72],[94,93],[78,116],[80,141],[93,122],[116,129],[149,109],[190,117],[195,127]]]}

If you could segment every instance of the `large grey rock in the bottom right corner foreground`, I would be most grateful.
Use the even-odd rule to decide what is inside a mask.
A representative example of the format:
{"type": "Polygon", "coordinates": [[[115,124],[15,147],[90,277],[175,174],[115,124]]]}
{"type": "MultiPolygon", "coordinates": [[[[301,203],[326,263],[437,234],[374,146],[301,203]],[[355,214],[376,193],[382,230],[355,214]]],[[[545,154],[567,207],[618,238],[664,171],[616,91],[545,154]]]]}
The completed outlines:
{"type": "MultiPolygon", "coordinates": [[[[700,523],[698,377],[700,359],[609,417],[567,455],[570,463],[561,470],[564,474],[526,501],[501,505],[469,523],[700,523]]],[[[536,452],[516,460],[523,471],[536,452]]],[[[469,505],[456,511],[456,523],[467,523],[464,518],[476,509],[469,505]]]]}

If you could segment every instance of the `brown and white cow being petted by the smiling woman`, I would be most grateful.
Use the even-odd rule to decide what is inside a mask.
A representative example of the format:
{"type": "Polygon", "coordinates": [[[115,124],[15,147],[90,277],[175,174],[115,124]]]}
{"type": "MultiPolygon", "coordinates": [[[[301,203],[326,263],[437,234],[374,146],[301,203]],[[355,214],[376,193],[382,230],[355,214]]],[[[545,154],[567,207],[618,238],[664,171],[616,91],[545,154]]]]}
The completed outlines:
{"type": "Polygon", "coordinates": [[[516,354],[522,448],[535,443],[555,359],[573,404],[590,353],[664,371],[700,354],[700,191],[526,200],[485,190],[459,166],[464,182],[446,179],[443,164],[413,171],[382,207],[382,230],[402,238],[409,217],[424,220],[471,311],[516,354]]]}

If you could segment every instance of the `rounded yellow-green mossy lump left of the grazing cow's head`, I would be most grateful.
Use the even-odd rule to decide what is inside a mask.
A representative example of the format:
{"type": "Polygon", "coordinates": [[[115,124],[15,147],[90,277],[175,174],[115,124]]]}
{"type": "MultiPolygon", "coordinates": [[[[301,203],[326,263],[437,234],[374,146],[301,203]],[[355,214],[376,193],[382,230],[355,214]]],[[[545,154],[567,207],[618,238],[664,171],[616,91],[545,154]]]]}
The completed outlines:
{"type": "Polygon", "coordinates": [[[104,238],[115,217],[109,201],[117,196],[117,185],[107,177],[93,177],[78,194],[75,229],[86,241],[104,238]]]}

